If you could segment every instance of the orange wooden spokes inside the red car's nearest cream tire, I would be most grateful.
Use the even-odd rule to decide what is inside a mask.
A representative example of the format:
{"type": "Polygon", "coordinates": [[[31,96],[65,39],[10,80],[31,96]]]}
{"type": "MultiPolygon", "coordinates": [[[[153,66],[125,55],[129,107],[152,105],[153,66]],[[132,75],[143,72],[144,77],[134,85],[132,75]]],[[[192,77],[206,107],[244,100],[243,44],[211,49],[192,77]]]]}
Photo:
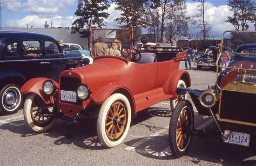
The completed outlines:
{"type": "Polygon", "coordinates": [[[127,124],[127,110],[123,102],[114,102],[105,120],[106,135],[111,141],[122,137],[127,124]]]}

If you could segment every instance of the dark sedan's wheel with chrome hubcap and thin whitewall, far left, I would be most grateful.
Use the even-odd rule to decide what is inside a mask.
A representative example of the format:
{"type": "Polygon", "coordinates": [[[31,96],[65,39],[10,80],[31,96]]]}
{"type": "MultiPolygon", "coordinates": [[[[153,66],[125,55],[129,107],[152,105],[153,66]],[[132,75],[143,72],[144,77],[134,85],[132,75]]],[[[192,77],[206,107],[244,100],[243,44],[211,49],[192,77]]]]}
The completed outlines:
{"type": "Polygon", "coordinates": [[[16,113],[22,105],[23,95],[16,84],[8,84],[0,92],[1,112],[5,115],[16,113]]]}

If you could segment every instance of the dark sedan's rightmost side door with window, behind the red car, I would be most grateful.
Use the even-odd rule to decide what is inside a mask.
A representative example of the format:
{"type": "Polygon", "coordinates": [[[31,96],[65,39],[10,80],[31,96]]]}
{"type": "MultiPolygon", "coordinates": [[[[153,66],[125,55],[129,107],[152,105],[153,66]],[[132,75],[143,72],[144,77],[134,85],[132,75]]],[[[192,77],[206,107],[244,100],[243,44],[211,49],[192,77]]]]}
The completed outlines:
{"type": "Polygon", "coordinates": [[[39,59],[37,77],[48,77],[58,81],[59,74],[65,70],[66,59],[56,41],[43,41],[43,53],[39,59]]]}

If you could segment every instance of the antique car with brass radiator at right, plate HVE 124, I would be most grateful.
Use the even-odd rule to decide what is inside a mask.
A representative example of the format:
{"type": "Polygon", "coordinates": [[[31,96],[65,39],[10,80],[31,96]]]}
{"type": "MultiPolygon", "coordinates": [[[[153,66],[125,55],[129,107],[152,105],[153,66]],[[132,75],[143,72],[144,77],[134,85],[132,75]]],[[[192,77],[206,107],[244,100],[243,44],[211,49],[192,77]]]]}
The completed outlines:
{"type": "Polygon", "coordinates": [[[256,32],[224,32],[221,44],[237,49],[227,66],[218,65],[228,55],[221,50],[216,65],[223,71],[217,73],[216,84],[206,90],[177,88],[180,102],[173,110],[169,128],[169,143],[174,156],[183,156],[190,147],[192,136],[207,131],[194,128],[192,104],[180,97],[186,93],[200,115],[214,119],[217,124],[215,133],[217,131],[224,142],[246,147],[253,145],[256,135],[255,39],[256,32]]]}

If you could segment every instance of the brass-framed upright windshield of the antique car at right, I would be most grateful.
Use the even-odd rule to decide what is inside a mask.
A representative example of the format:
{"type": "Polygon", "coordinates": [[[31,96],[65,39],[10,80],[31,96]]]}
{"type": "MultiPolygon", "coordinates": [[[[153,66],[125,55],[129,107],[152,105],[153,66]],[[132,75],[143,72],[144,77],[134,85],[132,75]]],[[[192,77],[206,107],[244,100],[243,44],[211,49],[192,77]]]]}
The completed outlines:
{"type": "Polygon", "coordinates": [[[256,65],[256,32],[226,31],[221,44],[223,47],[218,53],[218,67],[252,69],[256,65]],[[242,63],[237,65],[239,61],[242,63]]]}

